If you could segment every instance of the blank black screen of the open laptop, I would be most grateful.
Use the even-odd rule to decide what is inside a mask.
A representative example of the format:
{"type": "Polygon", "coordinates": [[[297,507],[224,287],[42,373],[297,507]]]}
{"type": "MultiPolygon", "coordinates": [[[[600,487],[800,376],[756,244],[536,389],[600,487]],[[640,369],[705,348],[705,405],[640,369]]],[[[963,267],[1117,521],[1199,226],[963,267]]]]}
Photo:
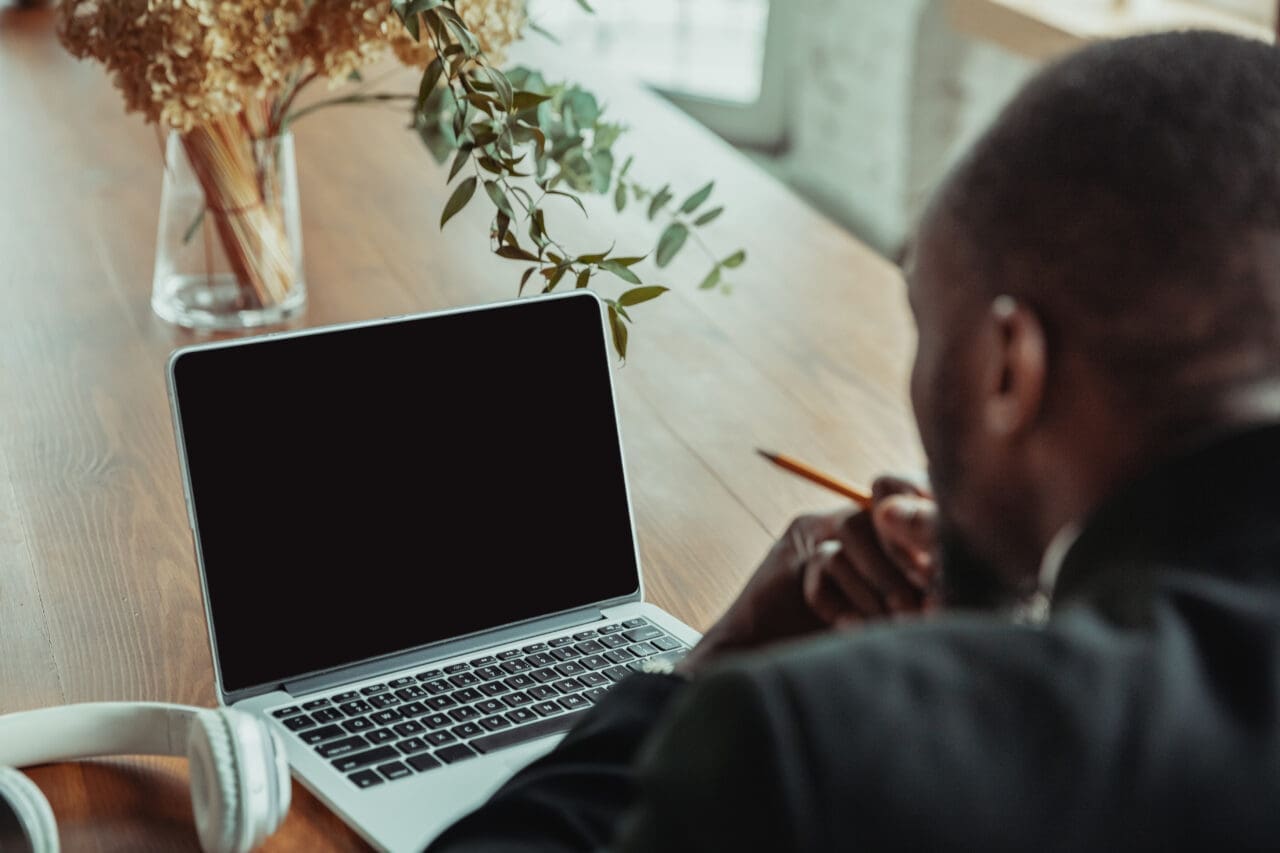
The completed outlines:
{"type": "Polygon", "coordinates": [[[182,352],[228,693],[639,588],[590,296],[182,352]]]}

